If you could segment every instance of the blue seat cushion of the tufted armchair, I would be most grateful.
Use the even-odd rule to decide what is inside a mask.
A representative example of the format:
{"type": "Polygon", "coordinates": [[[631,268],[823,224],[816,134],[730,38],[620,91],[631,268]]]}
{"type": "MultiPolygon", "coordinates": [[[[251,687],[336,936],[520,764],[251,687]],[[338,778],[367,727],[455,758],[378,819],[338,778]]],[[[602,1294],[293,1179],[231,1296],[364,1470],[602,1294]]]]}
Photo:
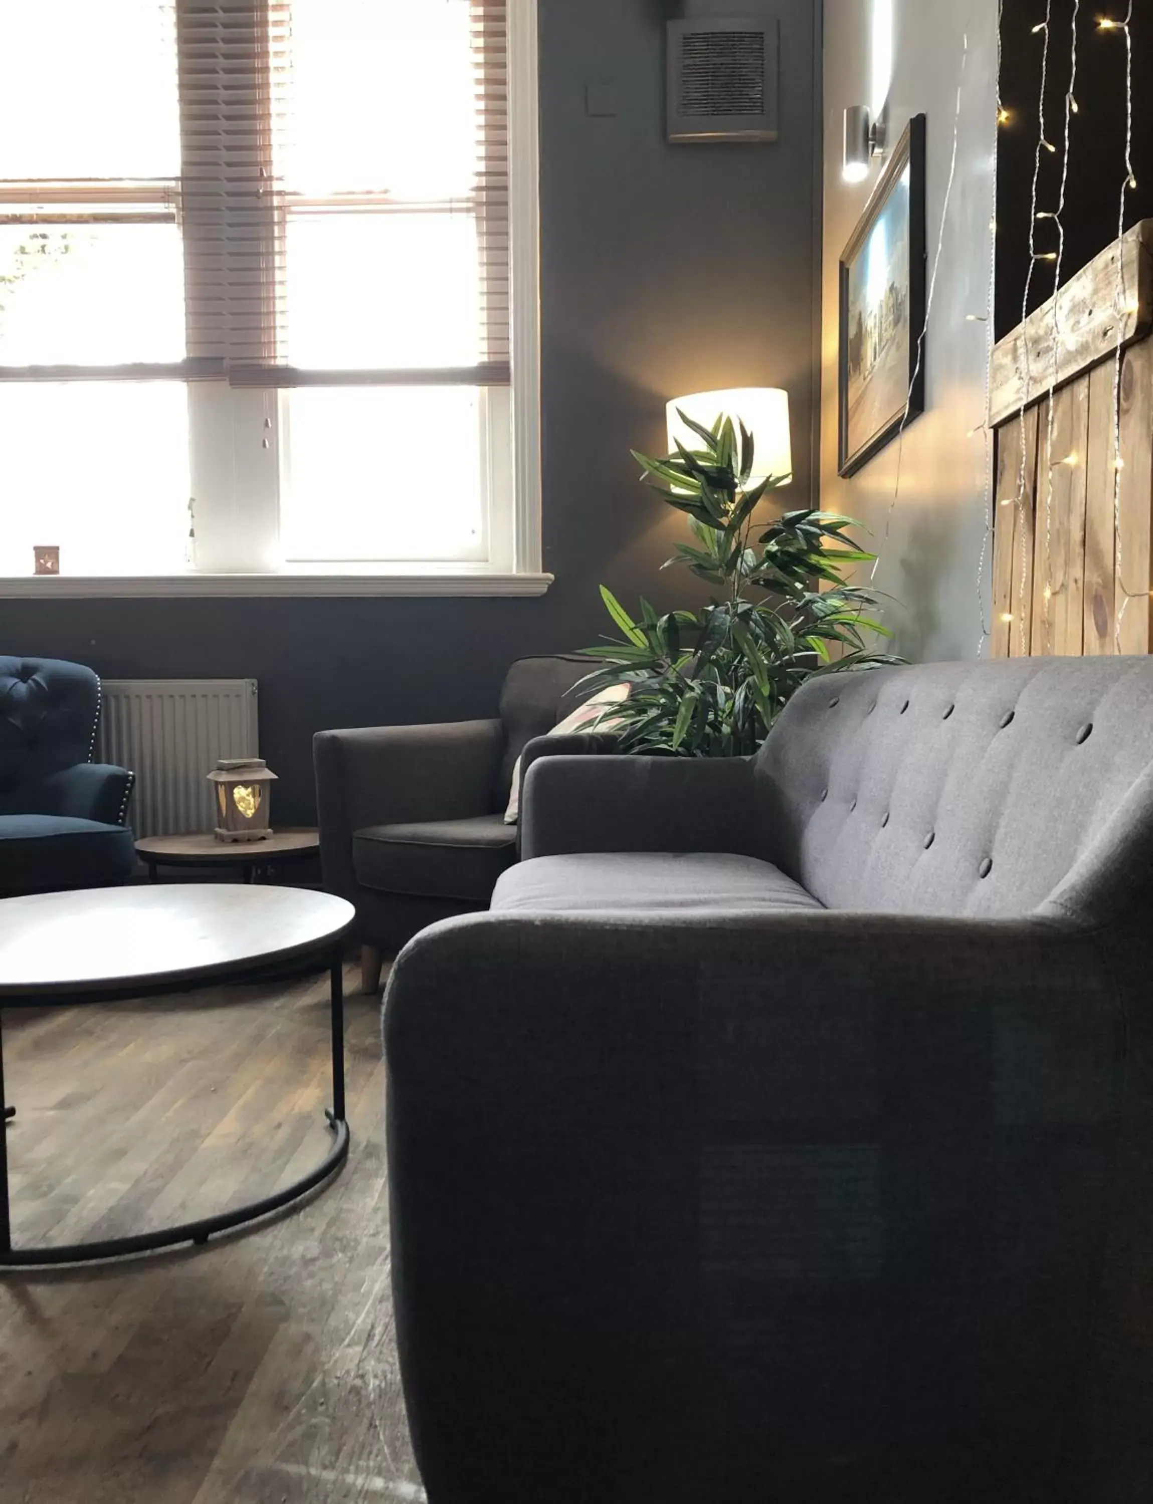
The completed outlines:
{"type": "Polygon", "coordinates": [[[125,883],[132,832],[68,815],[0,815],[0,892],[35,893],[125,883]]]}

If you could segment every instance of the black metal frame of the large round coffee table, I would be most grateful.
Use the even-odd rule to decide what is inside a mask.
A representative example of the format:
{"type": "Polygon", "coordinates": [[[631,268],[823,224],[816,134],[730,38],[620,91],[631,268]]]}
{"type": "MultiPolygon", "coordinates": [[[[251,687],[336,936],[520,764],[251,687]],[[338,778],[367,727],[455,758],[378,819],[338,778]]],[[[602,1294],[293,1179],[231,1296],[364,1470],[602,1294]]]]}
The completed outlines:
{"type": "MultiPolygon", "coordinates": [[[[332,1148],[316,1169],[302,1175],[292,1185],[284,1187],[284,1190],[275,1191],[272,1196],[265,1196],[259,1202],[233,1208],[233,1211],[218,1212],[215,1217],[200,1217],[177,1227],[162,1227],[155,1232],[134,1233],[128,1238],[105,1238],[96,1242],[75,1242],[60,1247],[12,1247],[6,1128],[8,1122],[15,1116],[15,1107],[8,1105],[5,1095],[5,1045],[3,1023],[0,1023],[0,1104],[5,1105],[3,1122],[0,1122],[0,1271],[12,1272],[14,1269],[45,1268],[59,1263],[95,1263],[101,1259],[120,1259],[125,1254],[171,1248],[182,1242],[203,1245],[215,1233],[230,1232],[235,1227],[244,1227],[247,1223],[259,1221],[284,1206],[290,1206],[293,1202],[299,1202],[310,1191],[332,1179],[349,1158],[350,1142],[349,1123],[344,1116],[344,952],[340,943],[335,948],[326,943],[323,948],[305,949],[301,955],[320,955],[322,952],[329,961],[329,1002],[332,1014],[332,1107],[325,1108],[325,1117],[335,1136],[332,1148]]],[[[213,972],[201,978],[191,975],[165,982],[164,985],[144,985],[131,990],[122,987],[114,991],[86,991],[80,985],[75,991],[60,996],[30,994],[27,997],[0,997],[0,1009],[71,1008],[81,1002],[84,1006],[93,1006],[101,1002],[114,1002],[126,997],[162,997],[173,993],[186,993],[197,987],[236,985],[239,982],[260,981],[260,976],[254,973],[259,973],[260,967],[266,973],[268,966],[269,961],[263,960],[262,963],[251,963],[242,970],[239,967],[228,969],[225,973],[213,972]]]]}

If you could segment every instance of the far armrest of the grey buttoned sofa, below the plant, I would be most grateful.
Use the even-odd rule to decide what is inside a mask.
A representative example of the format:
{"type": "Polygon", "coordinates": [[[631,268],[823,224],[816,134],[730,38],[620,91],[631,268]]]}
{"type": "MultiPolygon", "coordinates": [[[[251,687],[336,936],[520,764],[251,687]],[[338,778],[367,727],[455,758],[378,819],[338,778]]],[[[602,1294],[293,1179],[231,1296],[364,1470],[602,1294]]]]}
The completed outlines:
{"type": "Polygon", "coordinates": [[[746,758],[549,757],[525,778],[525,857],[573,851],[756,854],[746,758]]]}

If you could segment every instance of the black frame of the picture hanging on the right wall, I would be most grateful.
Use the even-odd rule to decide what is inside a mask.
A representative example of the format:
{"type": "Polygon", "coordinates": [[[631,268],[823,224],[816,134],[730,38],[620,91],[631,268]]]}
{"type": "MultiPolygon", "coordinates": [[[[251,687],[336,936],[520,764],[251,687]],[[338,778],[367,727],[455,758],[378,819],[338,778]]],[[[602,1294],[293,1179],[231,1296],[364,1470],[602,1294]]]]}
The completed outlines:
{"type": "MultiPolygon", "coordinates": [[[[928,314],[928,247],[926,247],[926,143],[928,117],[914,116],[897,141],[869,208],[861,215],[849,244],[840,257],[840,347],[837,352],[837,472],[842,477],[855,475],[869,460],[881,453],[914,418],[925,412],[925,334],[928,314]],[[908,379],[900,391],[899,408],[890,406],[882,421],[864,435],[852,433],[849,414],[849,356],[852,334],[851,284],[854,268],[867,250],[873,230],[893,203],[894,190],[908,171],[908,287],[905,307],[908,316],[908,379]]],[[[903,361],[902,361],[903,373],[903,361]]]]}

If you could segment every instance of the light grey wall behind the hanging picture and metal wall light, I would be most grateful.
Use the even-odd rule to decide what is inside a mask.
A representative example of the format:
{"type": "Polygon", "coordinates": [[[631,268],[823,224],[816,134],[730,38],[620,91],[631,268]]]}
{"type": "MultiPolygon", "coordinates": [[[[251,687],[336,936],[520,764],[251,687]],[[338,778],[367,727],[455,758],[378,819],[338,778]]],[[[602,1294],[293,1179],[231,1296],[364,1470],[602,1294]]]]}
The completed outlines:
{"type": "Polygon", "coordinates": [[[985,316],[989,305],[998,6],[997,0],[893,0],[890,131],[896,140],[912,114],[928,114],[931,272],[941,245],[926,341],[928,411],[909,424],[902,444],[894,441],[842,481],[837,263],[884,165],[864,183],[842,180],[842,122],[846,105],[872,102],[873,21],[885,3],[825,0],[824,8],[822,504],[873,531],[881,552],[876,588],[900,602],[887,612],[897,651],[920,660],[971,659],[988,617],[982,603],[991,597],[992,549],[979,585],[991,444],[973,430],[985,421],[989,326],[967,316],[985,316]],[[955,122],[956,176],[946,217],[955,122]]]}

